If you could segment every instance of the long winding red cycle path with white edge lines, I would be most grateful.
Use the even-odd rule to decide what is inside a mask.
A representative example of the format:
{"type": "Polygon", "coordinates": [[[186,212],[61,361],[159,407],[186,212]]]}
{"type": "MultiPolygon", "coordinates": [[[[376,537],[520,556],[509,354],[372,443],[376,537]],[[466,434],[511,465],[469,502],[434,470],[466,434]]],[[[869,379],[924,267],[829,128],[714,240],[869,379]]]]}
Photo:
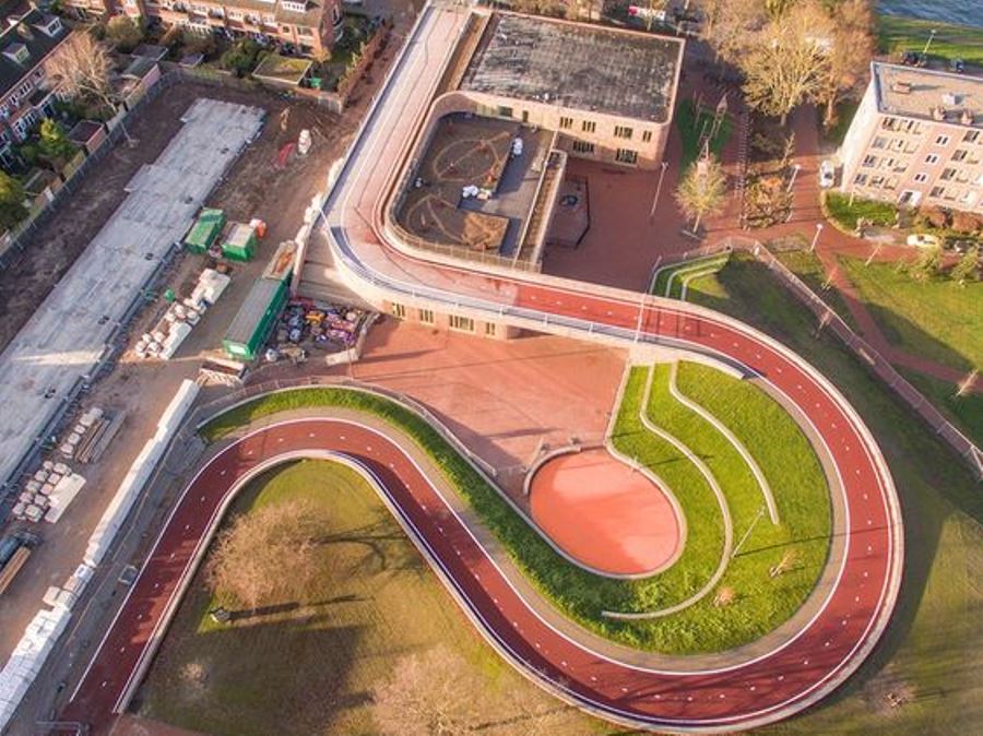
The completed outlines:
{"type": "MultiPolygon", "coordinates": [[[[445,23],[449,16],[438,13],[426,23],[434,17],[445,23]]],[[[452,25],[428,25],[425,32],[429,36],[419,36],[407,45],[407,54],[415,61],[404,64],[400,74],[415,73],[421,64],[431,63],[435,57],[426,56],[427,39],[434,37],[438,45],[448,43],[452,33],[443,28],[452,25]],[[439,37],[431,27],[438,28],[439,37]]],[[[436,69],[436,62],[434,66],[436,69]]],[[[402,88],[407,99],[416,94],[415,84],[402,88]]],[[[417,95],[417,104],[421,99],[417,95]]],[[[377,115],[378,110],[372,114],[370,128],[389,124],[391,115],[377,115]]],[[[393,124],[406,124],[407,116],[405,112],[395,118],[393,124]]],[[[368,146],[369,153],[376,153],[378,146],[368,146]]],[[[384,150],[387,155],[395,155],[398,146],[384,150]]],[[[358,201],[348,204],[344,198],[339,206],[355,213],[353,224],[344,227],[347,237],[359,244],[364,264],[375,247],[381,250],[368,256],[372,270],[380,273],[395,269],[403,278],[414,277],[411,270],[424,273],[419,259],[387,245],[378,237],[375,222],[368,227],[365,217],[362,225],[356,222],[359,206],[374,207],[375,198],[380,195],[379,171],[386,168],[380,159],[374,159],[371,168],[359,165],[352,173],[343,173],[340,186],[352,187],[359,177],[364,186],[358,187],[358,201]],[[371,245],[371,238],[378,238],[377,245],[371,245]]],[[[138,663],[149,651],[168,600],[181,578],[191,574],[194,550],[210,524],[217,522],[222,499],[261,459],[291,450],[333,450],[365,463],[377,474],[399,513],[412,522],[418,539],[430,550],[431,561],[479,618],[484,633],[528,674],[564,689],[569,699],[600,715],[661,728],[747,728],[778,721],[817,701],[860,665],[893,606],[901,530],[892,525],[900,514],[890,478],[878,464],[878,450],[862,436],[843,400],[810,375],[800,358],[745,325],[685,304],[650,301],[642,308],[637,298],[597,296],[585,290],[590,286],[553,287],[463,268],[430,263],[425,268],[425,275],[416,276],[423,278],[421,283],[446,285],[451,294],[477,292],[486,299],[505,299],[510,307],[632,332],[640,323],[640,335],[649,340],[716,351],[748,366],[794,402],[829,449],[845,495],[844,559],[816,616],[772,652],[726,668],[658,672],[611,661],[548,628],[517,596],[467,531],[454,518],[445,518],[437,494],[398,446],[350,424],[309,420],[261,430],[225,450],[202,470],[163,530],[62,717],[91,723],[95,733],[105,733],[138,663]]]]}

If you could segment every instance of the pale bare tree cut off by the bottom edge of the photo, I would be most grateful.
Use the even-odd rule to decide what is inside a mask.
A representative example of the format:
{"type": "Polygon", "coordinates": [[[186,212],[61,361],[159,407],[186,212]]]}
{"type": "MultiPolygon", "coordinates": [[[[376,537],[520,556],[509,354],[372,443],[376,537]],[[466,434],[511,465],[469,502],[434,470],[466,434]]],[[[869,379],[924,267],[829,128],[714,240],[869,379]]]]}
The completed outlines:
{"type": "Polygon", "coordinates": [[[389,681],[372,690],[376,723],[392,736],[453,736],[474,732],[476,698],[487,685],[447,646],[400,660],[389,681]]]}

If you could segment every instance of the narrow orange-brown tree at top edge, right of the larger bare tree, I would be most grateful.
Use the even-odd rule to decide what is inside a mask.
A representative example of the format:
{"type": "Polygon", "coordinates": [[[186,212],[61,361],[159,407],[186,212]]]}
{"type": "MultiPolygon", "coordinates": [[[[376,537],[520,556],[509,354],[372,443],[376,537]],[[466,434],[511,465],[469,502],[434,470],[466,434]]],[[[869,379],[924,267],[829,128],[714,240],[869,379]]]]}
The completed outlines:
{"type": "Polygon", "coordinates": [[[832,43],[817,94],[825,107],[822,123],[827,128],[836,123],[837,103],[856,86],[876,48],[871,0],[841,0],[828,12],[836,14],[832,43]]]}

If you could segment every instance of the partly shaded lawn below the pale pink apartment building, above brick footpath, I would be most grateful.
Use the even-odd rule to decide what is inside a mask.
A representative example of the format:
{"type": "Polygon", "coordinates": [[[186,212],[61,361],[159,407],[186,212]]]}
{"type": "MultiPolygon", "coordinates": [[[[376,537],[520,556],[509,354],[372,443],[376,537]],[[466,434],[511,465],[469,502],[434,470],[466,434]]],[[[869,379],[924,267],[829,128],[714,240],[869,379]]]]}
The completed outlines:
{"type": "Polygon", "coordinates": [[[983,283],[914,281],[888,263],[841,258],[887,339],[901,349],[969,372],[983,367],[983,283]]]}

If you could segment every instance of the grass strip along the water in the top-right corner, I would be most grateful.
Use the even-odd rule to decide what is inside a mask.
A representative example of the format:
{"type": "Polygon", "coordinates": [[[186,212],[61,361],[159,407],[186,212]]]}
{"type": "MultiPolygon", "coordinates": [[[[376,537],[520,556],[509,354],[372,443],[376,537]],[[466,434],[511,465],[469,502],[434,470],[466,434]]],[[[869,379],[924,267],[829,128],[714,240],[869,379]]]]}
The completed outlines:
{"type": "Polygon", "coordinates": [[[929,57],[946,63],[952,59],[962,59],[967,63],[983,66],[983,28],[900,15],[878,15],[877,39],[880,51],[892,56],[902,51],[921,52],[933,28],[937,33],[928,47],[929,57]]]}

